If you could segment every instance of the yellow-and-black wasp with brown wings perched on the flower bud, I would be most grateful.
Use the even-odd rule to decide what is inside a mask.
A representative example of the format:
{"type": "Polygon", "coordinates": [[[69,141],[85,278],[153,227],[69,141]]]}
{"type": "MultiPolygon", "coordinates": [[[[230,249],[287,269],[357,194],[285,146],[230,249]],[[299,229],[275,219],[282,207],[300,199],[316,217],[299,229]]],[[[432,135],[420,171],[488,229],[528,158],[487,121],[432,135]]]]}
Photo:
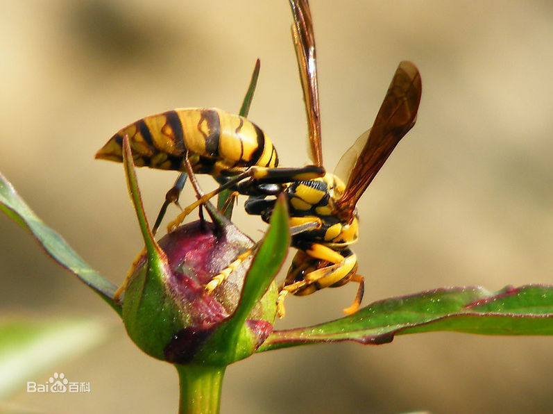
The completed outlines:
{"type": "MultiPolygon", "coordinates": [[[[289,0],[289,3],[293,14],[294,24],[291,31],[305,101],[312,165],[299,168],[278,167],[278,157],[272,144],[270,156],[260,156],[254,160],[246,155],[269,154],[260,151],[260,148],[269,148],[267,142],[270,141],[264,134],[263,140],[245,140],[244,135],[232,135],[232,127],[243,127],[247,123],[256,131],[255,137],[260,136],[257,131],[261,130],[255,124],[237,118],[237,115],[229,116],[232,119],[240,119],[234,124],[229,122],[221,127],[221,122],[219,129],[212,128],[216,130],[213,134],[216,138],[207,140],[210,136],[207,131],[211,129],[207,128],[209,122],[201,120],[201,113],[205,111],[201,109],[174,111],[179,115],[182,131],[185,131],[178,135],[175,135],[173,125],[168,121],[165,115],[167,113],[141,119],[114,135],[99,151],[102,155],[97,154],[96,158],[120,161],[121,137],[125,134],[130,137],[137,135],[137,131],[144,129],[144,121],[151,134],[150,141],[154,142],[153,146],[158,151],[152,150],[153,152],[142,155],[140,151],[146,138],[143,138],[140,132],[137,143],[133,145],[133,152],[137,151],[133,156],[138,165],[186,171],[191,178],[196,172],[212,174],[219,178],[218,181],[223,184],[207,194],[201,194],[197,185],[194,186],[198,200],[185,208],[177,220],[169,224],[169,230],[180,224],[194,208],[207,203],[211,197],[227,188],[248,195],[246,212],[260,215],[262,220],[269,222],[276,201],[273,196],[284,192],[289,204],[291,244],[298,251],[278,295],[278,315],[284,316],[284,298],[287,295],[309,295],[316,290],[339,287],[350,281],[359,283],[359,288],[352,305],[343,311],[348,314],[355,313],[364,293],[364,278],[357,274],[357,256],[350,249],[350,245],[359,238],[357,201],[395,146],[416,122],[422,91],[420,74],[411,62],[402,61],[398,65],[372,128],[361,134],[355,144],[346,151],[335,174],[325,172],[312,17],[307,0],[289,0]],[[190,119],[193,116],[196,117],[196,122],[190,119]],[[155,122],[151,123],[152,127],[146,119],[155,119],[155,122]],[[225,141],[221,140],[221,137],[226,135],[223,131],[234,137],[226,141],[229,152],[221,151],[220,144],[217,147],[219,151],[208,151],[207,147],[215,148],[212,142],[225,141]],[[173,137],[178,137],[178,144],[173,137]],[[263,160],[259,162],[261,159],[263,160]],[[152,160],[155,162],[152,163],[152,160]],[[270,163],[271,160],[273,164],[270,163]],[[228,178],[233,174],[237,175],[228,178]]],[[[226,115],[221,110],[211,111],[217,115],[226,115]]],[[[254,135],[251,133],[247,136],[252,138],[254,135]]],[[[217,288],[250,253],[251,251],[244,252],[226,270],[214,276],[212,281],[207,283],[206,290],[212,291],[217,288]]]]}

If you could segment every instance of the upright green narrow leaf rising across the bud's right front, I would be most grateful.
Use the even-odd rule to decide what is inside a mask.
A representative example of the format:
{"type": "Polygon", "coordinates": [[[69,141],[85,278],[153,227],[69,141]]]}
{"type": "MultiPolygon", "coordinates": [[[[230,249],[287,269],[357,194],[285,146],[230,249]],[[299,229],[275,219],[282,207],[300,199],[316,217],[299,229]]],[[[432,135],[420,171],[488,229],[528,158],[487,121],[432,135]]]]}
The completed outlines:
{"type": "Polygon", "coordinates": [[[235,313],[223,322],[209,342],[206,342],[204,351],[212,354],[216,349],[221,354],[222,364],[232,363],[250,354],[251,344],[246,342],[250,339],[251,333],[245,324],[246,319],[280,270],[289,244],[287,204],[281,195],[275,204],[262,245],[246,274],[235,313]],[[239,338],[244,338],[244,341],[239,338]]]}

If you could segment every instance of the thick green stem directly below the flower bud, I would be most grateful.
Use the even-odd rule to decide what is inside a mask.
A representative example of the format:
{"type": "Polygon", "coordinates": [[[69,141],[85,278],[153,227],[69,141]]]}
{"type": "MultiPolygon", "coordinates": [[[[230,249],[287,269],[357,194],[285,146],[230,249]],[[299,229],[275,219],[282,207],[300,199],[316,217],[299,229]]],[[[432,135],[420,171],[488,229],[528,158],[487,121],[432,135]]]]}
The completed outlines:
{"type": "Polygon", "coordinates": [[[226,367],[175,365],[180,384],[180,414],[216,414],[226,367]]]}

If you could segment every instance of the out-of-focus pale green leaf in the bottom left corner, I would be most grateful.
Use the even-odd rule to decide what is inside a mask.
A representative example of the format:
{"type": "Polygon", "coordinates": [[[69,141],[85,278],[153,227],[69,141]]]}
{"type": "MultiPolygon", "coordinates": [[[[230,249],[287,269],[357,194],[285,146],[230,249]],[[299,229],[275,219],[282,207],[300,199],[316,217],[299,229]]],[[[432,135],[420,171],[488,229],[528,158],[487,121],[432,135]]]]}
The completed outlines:
{"type": "MultiPolygon", "coordinates": [[[[94,320],[2,320],[0,322],[0,397],[44,383],[46,370],[99,345],[108,328],[94,320]]],[[[52,372],[49,373],[50,375],[52,372]]]]}

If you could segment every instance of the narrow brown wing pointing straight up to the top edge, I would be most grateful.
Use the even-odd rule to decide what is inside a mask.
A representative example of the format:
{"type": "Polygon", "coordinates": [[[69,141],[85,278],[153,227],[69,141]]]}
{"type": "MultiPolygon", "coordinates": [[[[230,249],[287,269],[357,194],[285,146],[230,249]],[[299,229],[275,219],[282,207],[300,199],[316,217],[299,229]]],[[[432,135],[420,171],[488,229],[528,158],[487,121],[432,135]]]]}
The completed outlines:
{"type": "Polygon", "coordinates": [[[292,40],[296,49],[298,69],[300,71],[307,126],[309,128],[309,148],[312,162],[323,166],[321,149],[321,115],[318,109],[318,85],[315,51],[315,36],[309,2],[307,0],[289,0],[292,8],[292,40]]]}

